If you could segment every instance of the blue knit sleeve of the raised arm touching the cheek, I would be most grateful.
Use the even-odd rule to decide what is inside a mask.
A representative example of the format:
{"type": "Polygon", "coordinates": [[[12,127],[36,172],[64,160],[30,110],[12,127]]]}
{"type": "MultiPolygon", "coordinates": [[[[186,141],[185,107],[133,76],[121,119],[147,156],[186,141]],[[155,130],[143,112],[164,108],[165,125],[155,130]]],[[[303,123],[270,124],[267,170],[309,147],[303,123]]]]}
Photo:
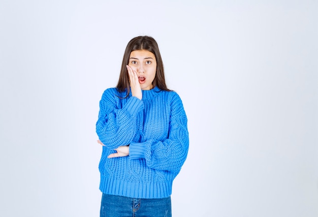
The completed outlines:
{"type": "Polygon", "coordinates": [[[136,134],[136,116],[143,109],[143,102],[130,97],[125,104],[117,103],[119,98],[113,89],[107,89],[100,101],[96,132],[103,144],[116,149],[130,144],[136,134]]]}

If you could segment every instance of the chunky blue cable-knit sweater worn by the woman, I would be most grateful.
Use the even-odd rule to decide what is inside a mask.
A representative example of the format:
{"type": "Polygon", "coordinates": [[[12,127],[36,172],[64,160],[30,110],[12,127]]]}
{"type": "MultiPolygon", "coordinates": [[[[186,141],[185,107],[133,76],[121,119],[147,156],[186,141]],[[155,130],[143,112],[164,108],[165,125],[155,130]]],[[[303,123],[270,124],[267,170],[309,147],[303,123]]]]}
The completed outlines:
{"type": "Polygon", "coordinates": [[[100,101],[96,132],[103,142],[100,190],[133,198],[165,198],[188,151],[187,118],[179,95],[157,87],[142,91],[142,100],[116,88],[100,101]],[[119,98],[119,97],[120,98],[119,98]],[[107,158],[119,146],[129,156],[107,158]]]}

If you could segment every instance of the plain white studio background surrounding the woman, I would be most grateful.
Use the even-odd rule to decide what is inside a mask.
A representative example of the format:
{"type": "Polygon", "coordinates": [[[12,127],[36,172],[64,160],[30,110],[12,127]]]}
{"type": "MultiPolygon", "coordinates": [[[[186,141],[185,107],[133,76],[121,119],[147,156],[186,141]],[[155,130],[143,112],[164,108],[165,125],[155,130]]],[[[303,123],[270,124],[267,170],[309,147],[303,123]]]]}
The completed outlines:
{"type": "Polygon", "coordinates": [[[151,35],[188,116],[173,216],[318,216],[316,1],[0,2],[0,216],[99,216],[95,124],[151,35]]]}

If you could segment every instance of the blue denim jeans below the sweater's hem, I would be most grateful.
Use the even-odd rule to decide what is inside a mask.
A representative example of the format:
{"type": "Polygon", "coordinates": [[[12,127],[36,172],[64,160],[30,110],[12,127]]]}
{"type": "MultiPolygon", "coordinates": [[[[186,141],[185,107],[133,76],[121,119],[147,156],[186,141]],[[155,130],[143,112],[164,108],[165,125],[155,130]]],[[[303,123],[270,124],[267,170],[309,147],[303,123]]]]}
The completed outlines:
{"type": "Polygon", "coordinates": [[[104,194],[101,217],[171,217],[171,198],[137,199],[104,194]]]}

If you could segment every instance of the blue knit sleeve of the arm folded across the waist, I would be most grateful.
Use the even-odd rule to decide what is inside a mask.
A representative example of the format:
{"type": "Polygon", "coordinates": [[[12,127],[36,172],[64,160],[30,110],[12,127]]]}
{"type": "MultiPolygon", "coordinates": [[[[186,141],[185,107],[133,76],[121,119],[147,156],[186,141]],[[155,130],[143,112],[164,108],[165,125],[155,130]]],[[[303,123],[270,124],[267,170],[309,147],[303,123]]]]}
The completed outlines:
{"type": "Polygon", "coordinates": [[[187,118],[180,97],[175,94],[171,103],[168,138],[163,141],[153,139],[145,142],[131,142],[131,159],[145,159],[152,169],[179,172],[189,146],[187,118]]]}

